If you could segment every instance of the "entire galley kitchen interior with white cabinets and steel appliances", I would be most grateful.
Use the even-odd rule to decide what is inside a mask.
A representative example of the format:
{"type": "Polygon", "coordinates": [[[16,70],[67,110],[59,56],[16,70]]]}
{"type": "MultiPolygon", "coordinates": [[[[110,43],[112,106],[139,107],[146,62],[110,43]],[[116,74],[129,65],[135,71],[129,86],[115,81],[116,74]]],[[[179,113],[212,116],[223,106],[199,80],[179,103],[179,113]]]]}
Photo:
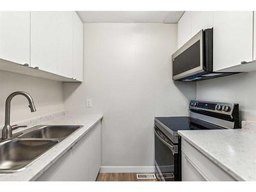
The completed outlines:
{"type": "Polygon", "coordinates": [[[0,11],[0,181],[256,181],[254,11],[0,11]]]}

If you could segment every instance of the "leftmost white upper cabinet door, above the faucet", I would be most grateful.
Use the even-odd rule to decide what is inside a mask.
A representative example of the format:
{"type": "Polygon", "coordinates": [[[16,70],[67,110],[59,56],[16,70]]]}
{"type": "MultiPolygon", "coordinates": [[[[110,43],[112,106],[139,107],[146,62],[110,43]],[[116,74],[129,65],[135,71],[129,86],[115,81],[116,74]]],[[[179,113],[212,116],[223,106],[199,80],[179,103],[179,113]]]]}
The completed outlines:
{"type": "Polygon", "coordinates": [[[0,12],[0,58],[30,64],[30,12],[0,12]]]}

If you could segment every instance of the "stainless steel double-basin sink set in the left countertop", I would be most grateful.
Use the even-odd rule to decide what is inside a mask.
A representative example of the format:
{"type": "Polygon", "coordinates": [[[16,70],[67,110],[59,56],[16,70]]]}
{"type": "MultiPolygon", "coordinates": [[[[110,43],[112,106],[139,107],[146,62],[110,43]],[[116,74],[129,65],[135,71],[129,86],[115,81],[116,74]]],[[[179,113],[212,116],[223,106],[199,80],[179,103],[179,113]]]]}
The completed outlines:
{"type": "Polygon", "coordinates": [[[37,125],[27,133],[0,142],[0,173],[25,169],[40,155],[79,130],[81,125],[37,125]]]}

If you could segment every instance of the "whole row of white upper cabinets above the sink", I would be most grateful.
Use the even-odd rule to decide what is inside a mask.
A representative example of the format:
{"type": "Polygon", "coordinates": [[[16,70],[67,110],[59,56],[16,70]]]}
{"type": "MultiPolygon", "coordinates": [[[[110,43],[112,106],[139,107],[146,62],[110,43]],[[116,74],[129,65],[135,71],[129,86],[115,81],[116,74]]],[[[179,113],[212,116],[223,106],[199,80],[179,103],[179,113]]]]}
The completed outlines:
{"type": "MultiPolygon", "coordinates": [[[[83,24],[74,11],[2,11],[0,59],[38,67],[33,76],[82,81],[83,24]]],[[[17,72],[14,66],[8,71],[17,72]]],[[[31,68],[18,71],[31,74],[31,68]]]]}

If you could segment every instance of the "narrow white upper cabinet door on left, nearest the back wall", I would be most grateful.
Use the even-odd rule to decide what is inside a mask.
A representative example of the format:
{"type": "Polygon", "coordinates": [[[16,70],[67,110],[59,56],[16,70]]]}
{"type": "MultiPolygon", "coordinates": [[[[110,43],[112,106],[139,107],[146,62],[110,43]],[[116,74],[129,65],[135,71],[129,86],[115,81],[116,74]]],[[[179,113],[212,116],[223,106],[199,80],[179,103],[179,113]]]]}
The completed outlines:
{"type": "Polygon", "coordinates": [[[73,78],[83,79],[83,24],[74,12],[73,78]]]}

